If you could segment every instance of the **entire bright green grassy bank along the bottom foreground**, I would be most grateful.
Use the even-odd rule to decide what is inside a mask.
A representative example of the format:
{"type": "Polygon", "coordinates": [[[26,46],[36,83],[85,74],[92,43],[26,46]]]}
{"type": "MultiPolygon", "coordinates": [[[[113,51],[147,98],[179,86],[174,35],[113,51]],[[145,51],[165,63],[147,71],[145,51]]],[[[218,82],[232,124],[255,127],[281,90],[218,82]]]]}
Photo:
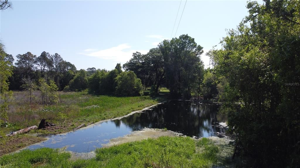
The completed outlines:
{"type": "Polygon", "coordinates": [[[207,139],[160,137],[96,150],[96,158],[71,160],[68,152],[42,148],[1,157],[1,167],[212,167],[218,147],[207,139]]]}

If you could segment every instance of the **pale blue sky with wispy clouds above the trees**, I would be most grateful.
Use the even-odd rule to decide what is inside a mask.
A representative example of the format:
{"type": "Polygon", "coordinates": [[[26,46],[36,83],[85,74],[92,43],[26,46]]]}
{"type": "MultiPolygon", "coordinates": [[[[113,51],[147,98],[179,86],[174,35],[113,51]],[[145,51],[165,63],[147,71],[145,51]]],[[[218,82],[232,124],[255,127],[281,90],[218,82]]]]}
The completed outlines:
{"type": "MultiPolygon", "coordinates": [[[[205,53],[247,16],[247,1],[11,2],[13,8],[0,14],[5,51],[15,60],[28,51],[58,53],[78,70],[123,65],[132,53],[146,54],[174,38],[177,27],[176,37],[188,34],[205,53]]],[[[205,54],[201,59],[207,68],[209,59],[205,54]]]]}

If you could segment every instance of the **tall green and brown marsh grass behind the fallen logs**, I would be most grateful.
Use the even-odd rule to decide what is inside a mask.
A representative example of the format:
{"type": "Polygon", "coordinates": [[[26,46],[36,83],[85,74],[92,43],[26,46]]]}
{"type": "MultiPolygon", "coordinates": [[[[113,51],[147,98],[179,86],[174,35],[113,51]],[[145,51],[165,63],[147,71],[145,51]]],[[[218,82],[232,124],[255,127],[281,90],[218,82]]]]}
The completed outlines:
{"type": "MultiPolygon", "coordinates": [[[[16,92],[16,94],[23,94],[23,92],[16,92]]],[[[59,92],[58,104],[40,105],[26,103],[22,101],[22,96],[15,95],[15,98],[10,100],[7,127],[2,130],[9,133],[37,125],[42,118],[58,125],[64,123],[64,126],[71,125],[66,123],[98,122],[126,115],[159,101],[161,100],[149,96],[113,97],[95,96],[87,92],[59,92]]]]}

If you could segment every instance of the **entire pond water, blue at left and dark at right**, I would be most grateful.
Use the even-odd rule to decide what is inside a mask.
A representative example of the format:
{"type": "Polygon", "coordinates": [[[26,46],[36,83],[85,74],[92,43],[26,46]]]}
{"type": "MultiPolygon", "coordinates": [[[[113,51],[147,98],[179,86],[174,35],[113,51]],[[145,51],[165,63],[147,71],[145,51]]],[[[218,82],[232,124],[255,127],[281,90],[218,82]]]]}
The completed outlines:
{"type": "Polygon", "coordinates": [[[41,147],[62,148],[73,152],[90,152],[102,147],[110,139],[130,134],[144,128],[167,128],[190,137],[217,136],[224,132],[215,123],[225,122],[226,118],[217,114],[219,105],[196,105],[188,101],[169,101],[135,113],[120,120],[95,124],[63,135],[53,135],[49,140],[29,146],[29,149],[41,147]]]}

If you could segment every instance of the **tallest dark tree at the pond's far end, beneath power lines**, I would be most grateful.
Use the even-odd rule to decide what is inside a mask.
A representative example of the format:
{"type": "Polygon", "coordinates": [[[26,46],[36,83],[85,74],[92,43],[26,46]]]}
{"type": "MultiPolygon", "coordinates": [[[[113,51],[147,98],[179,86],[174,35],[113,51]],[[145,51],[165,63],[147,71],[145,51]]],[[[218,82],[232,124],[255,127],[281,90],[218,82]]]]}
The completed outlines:
{"type": "Polygon", "coordinates": [[[188,35],[164,40],[159,48],[164,57],[167,87],[173,97],[189,99],[195,87],[197,69],[203,67],[200,55],[203,47],[188,35]]]}

